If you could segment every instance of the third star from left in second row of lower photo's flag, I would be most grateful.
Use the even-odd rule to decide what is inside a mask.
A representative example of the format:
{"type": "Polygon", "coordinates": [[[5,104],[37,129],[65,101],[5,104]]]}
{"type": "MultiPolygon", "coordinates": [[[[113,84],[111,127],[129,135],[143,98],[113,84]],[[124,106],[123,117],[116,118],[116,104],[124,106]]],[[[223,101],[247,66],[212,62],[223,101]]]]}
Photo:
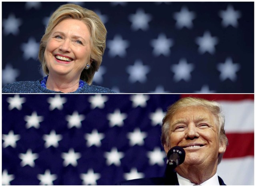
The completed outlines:
{"type": "Polygon", "coordinates": [[[126,119],[127,115],[125,113],[121,113],[120,109],[115,109],[114,113],[109,113],[107,115],[107,119],[109,120],[110,127],[114,127],[115,125],[121,127],[124,125],[124,119],[126,119]]]}

